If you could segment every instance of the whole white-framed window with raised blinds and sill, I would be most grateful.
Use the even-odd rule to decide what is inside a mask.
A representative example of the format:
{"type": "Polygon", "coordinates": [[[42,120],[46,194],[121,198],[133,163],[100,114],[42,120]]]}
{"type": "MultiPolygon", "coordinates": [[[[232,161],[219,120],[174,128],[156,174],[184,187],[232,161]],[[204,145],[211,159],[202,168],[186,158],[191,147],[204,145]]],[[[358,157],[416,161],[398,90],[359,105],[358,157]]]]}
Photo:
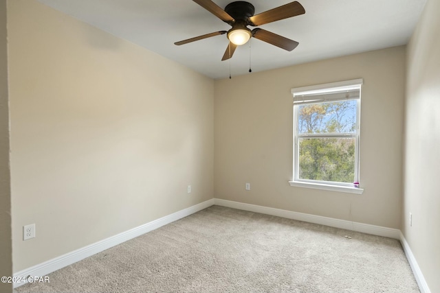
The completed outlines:
{"type": "Polygon", "coordinates": [[[362,194],[359,182],[362,79],[292,89],[292,186],[362,194]]]}

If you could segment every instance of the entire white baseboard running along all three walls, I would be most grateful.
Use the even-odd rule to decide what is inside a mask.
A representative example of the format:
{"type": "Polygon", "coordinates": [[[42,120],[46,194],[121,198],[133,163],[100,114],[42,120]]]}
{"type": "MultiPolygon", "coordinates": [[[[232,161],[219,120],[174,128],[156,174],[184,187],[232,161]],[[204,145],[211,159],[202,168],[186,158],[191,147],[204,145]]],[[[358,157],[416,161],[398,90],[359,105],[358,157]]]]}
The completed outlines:
{"type": "MultiPolygon", "coordinates": [[[[43,263],[40,263],[36,266],[32,266],[31,268],[27,268],[25,270],[21,270],[14,274],[14,277],[20,277],[20,279],[27,279],[28,276],[32,277],[43,277],[51,272],[64,268],[65,266],[69,266],[72,263],[76,263],[86,257],[90,257],[91,255],[95,255],[96,253],[100,253],[103,250],[126,242],[129,239],[133,239],[142,234],[153,231],[161,226],[169,224],[171,222],[175,222],[181,218],[185,218],[188,215],[192,215],[192,213],[197,213],[197,211],[201,211],[202,209],[206,209],[212,205],[219,205],[222,207],[230,207],[233,209],[241,209],[244,211],[253,211],[254,213],[264,213],[267,215],[275,215],[282,218],[299,220],[303,222],[310,222],[314,224],[321,224],[325,226],[331,226],[336,228],[343,228],[347,230],[358,231],[362,233],[384,236],[399,239],[404,248],[406,257],[408,258],[408,262],[412,268],[412,272],[415,274],[415,278],[417,283],[419,284],[419,288],[421,293],[430,293],[428,288],[428,284],[423,278],[423,274],[415,260],[414,255],[410,250],[408,242],[404,235],[402,235],[400,230],[393,228],[386,228],[382,226],[374,226],[369,224],[362,224],[358,222],[350,222],[347,220],[338,220],[334,218],[322,217],[320,215],[310,215],[307,213],[298,213],[294,211],[286,211],[283,209],[274,209],[271,207],[262,207],[255,204],[245,204],[242,202],[233,202],[230,200],[221,200],[219,198],[213,198],[211,200],[206,200],[205,202],[201,202],[192,207],[188,207],[187,209],[183,209],[181,211],[177,211],[170,215],[166,215],[163,218],[159,218],[152,222],[148,222],[143,224],[142,226],[138,226],[130,229],[129,231],[125,231],[113,237],[109,237],[107,239],[101,240],[100,242],[96,242],[94,244],[90,244],[89,246],[85,246],[83,248],[79,248],[77,250],[72,251],[71,253],[67,253],[65,255],[61,255],[60,257],[56,257],[54,259],[50,259],[43,263]]],[[[17,288],[25,283],[14,283],[14,288],[17,288]]]]}

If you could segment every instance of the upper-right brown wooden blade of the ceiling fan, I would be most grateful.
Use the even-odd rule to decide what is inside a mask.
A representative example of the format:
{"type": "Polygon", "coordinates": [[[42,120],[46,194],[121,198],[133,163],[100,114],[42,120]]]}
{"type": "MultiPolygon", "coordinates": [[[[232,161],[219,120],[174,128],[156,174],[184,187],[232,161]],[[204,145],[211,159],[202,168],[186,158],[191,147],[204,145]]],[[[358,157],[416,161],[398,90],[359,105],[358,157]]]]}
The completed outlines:
{"type": "Polygon", "coordinates": [[[260,14],[250,17],[249,25],[264,25],[265,23],[281,21],[281,19],[288,19],[289,17],[300,14],[305,14],[305,9],[303,8],[303,5],[297,1],[294,1],[292,3],[282,5],[272,10],[267,10],[266,12],[261,12],[260,14]]]}

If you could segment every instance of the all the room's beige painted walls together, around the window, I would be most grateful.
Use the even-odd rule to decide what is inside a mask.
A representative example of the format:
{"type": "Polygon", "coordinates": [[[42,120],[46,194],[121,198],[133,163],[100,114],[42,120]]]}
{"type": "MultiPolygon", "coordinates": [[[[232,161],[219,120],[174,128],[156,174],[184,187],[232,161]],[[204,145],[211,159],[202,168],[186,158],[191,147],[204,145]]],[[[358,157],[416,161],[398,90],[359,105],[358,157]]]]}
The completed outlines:
{"type": "MultiPolygon", "coordinates": [[[[405,47],[214,82],[34,0],[8,1],[14,272],[216,197],[402,228],[431,291],[440,291],[440,200],[426,184],[440,169],[439,10],[428,1],[409,46],[405,140],[405,47]],[[290,89],[355,78],[364,78],[364,194],[290,187],[290,89]],[[22,226],[32,223],[37,237],[23,242],[22,226]]],[[[9,275],[0,11],[0,268],[9,275]]]]}

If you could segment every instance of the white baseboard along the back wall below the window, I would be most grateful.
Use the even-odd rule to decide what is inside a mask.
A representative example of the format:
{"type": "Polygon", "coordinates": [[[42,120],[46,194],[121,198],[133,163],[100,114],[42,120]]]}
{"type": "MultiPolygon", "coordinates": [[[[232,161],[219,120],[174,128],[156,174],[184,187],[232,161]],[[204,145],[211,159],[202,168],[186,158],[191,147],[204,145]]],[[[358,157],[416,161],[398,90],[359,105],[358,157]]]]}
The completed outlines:
{"type": "Polygon", "coordinates": [[[286,211],[284,209],[274,209],[272,207],[262,207],[255,204],[245,204],[242,202],[233,202],[230,200],[221,200],[214,198],[214,204],[222,207],[230,207],[233,209],[242,209],[244,211],[253,211],[254,213],[265,213],[266,215],[276,215],[277,217],[309,222],[314,224],[321,224],[335,228],[342,228],[352,231],[358,231],[371,235],[378,235],[400,239],[400,230],[393,228],[386,228],[382,226],[374,226],[369,224],[362,224],[358,222],[351,222],[347,220],[339,220],[334,218],[322,217],[320,215],[310,215],[308,213],[298,213],[296,211],[286,211]]]}

